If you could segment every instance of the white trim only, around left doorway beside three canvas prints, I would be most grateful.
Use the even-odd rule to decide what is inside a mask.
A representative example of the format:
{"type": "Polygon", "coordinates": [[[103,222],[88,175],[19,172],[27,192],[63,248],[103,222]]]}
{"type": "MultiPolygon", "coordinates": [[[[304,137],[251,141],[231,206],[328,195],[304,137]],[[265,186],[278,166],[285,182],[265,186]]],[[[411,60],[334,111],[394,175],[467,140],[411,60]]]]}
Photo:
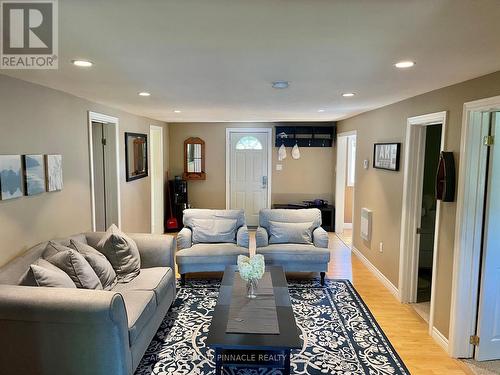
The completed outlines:
{"type": "Polygon", "coordinates": [[[92,122],[101,122],[104,125],[113,124],[115,126],[115,149],[116,149],[116,199],[117,199],[117,215],[118,215],[118,228],[122,225],[121,215],[121,197],[120,197],[120,125],[118,117],[108,116],[103,113],[88,111],[88,132],[89,132],[89,168],[90,168],[90,206],[91,206],[91,220],[92,231],[96,230],[95,222],[95,187],[94,187],[94,147],[92,145],[92,122]]]}

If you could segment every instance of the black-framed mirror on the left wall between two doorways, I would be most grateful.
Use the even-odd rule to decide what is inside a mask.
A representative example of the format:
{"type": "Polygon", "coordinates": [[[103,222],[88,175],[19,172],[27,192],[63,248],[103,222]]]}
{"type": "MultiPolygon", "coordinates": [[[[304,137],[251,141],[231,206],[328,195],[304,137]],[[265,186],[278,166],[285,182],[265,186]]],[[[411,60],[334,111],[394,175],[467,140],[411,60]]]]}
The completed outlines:
{"type": "Polygon", "coordinates": [[[148,136],[125,133],[125,168],[127,182],[148,176],[148,136]]]}

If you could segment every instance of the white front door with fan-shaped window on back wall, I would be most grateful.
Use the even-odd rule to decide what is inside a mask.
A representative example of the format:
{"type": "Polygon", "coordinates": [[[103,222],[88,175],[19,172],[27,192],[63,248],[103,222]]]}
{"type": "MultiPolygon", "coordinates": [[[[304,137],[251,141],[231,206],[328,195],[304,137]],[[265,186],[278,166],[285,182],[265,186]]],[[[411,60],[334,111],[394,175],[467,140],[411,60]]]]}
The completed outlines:
{"type": "Polygon", "coordinates": [[[247,225],[259,224],[259,211],[268,207],[267,132],[231,132],[229,142],[229,208],[244,209],[247,225]]]}

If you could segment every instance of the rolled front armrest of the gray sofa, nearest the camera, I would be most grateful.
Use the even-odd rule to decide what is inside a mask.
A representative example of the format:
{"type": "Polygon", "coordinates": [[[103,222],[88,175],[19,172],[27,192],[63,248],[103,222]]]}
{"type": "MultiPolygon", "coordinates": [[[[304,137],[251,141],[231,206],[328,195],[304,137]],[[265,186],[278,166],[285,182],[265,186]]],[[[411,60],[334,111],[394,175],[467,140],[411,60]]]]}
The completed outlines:
{"type": "Polygon", "coordinates": [[[120,294],[0,285],[0,301],[0,363],[5,373],[131,372],[127,313],[120,294]]]}

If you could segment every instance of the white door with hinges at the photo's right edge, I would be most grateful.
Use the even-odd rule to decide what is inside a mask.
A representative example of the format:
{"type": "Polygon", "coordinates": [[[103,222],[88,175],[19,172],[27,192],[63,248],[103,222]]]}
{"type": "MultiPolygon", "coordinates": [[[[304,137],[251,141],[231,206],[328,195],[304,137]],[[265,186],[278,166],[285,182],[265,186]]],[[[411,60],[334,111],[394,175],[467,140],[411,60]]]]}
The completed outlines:
{"type": "Polygon", "coordinates": [[[492,114],[492,134],[497,144],[490,146],[484,221],[483,259],[479,298],[478,361],[500,359],[500,113],[492,114]]]}

